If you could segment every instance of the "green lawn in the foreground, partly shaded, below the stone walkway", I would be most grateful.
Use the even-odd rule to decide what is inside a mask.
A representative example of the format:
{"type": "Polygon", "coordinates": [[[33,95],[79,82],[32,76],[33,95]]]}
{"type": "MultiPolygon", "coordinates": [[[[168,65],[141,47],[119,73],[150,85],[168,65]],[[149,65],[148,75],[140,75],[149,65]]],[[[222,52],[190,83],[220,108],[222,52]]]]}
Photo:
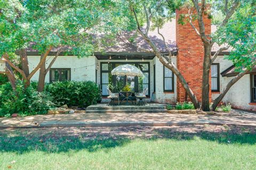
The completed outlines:
{"type": "MultiPolygon", "coordinates": [[[[43,131],[43,129],[42,129],[43,131]]],[[[58,131],[55,130],[55,131],[58,131]]],[[[255,169],[256,135],[0,131],[0,169],[255,169]],[[140,134],[141,136],[137,136],[140,134]],[[12,162],[12,161],[15,161],[12,162]],[[8,168],[9,167],[9,168],[8,168]]]]}

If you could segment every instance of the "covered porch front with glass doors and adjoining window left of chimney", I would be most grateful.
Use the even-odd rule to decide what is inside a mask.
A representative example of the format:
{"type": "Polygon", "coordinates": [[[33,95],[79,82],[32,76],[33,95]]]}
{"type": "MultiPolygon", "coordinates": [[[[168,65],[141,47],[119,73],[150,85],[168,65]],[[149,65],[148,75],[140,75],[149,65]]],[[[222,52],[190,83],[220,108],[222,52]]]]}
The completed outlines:
{"type": "MultiPolygon", "coordinates": [[[[176,56],[173,56],[176,63],[176,56]]],[[[109,95],[107,87],[113,93],[119,93],[122,88],[128,84],[131,91],[141,93],[143,89],[148,88],[147,101],[159,103],[175,103],[176,94],[176,77],[151,53],[115,53],[113,55],[95,54],[97,63],[96,82],[102,91],[102,101],[107,102],[109,95]],[[143,72],[143,77],[132,76],[114,76],[111,70],[122,64],[131,64],[143,72]]],[[[131,100],[135,101],[133,94],[131,100]]],[[[122,97],[121,99],[122,100],[122,97]]]]}

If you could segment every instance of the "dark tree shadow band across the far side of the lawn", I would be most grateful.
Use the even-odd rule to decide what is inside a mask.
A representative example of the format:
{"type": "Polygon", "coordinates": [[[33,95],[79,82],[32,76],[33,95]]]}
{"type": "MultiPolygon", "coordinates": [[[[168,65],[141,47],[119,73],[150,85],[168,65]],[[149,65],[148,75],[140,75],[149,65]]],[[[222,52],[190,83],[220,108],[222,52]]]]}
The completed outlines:
{"type": "MultiPolygon", "coordinates": [[[[119,129],[120,130],[120,129],[119,129]]],[[[119,132],[118,130],[118,132],[119,132]]],[[[68,152],[70,150],[79,151],[86,149],[89,152],[98,150],[108,151],[111,148],[123,147],[133,139],[145,141],[166,140],[194,140],[195,136],[206,141],[215,141],[222,144],[255,144],[255,133],[230,133],[228,132],[181,132],[179,127],[175,128],[149,128],[130,127],[121,129],[120,133],[90,132],[84,133],[65,132],[57,133],[2,133],[0,131],[0,152],[25,153],[30,151],[43,151],[47,153],[68,152]],[[132,132],[133,135],[130,133],[132,132]]],[[[58,132],[58,131],[57,131],[58,132]]]]}

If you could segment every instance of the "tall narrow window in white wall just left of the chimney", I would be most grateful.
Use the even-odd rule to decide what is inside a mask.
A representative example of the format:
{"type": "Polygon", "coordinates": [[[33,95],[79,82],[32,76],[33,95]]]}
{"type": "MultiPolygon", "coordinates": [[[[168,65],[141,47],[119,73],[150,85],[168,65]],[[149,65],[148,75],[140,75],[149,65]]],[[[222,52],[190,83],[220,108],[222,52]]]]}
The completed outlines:
{"type": "Polygon", "coordinates": [[[164,92],[174,92],[174,74],[164,66],[164,92]]]}

